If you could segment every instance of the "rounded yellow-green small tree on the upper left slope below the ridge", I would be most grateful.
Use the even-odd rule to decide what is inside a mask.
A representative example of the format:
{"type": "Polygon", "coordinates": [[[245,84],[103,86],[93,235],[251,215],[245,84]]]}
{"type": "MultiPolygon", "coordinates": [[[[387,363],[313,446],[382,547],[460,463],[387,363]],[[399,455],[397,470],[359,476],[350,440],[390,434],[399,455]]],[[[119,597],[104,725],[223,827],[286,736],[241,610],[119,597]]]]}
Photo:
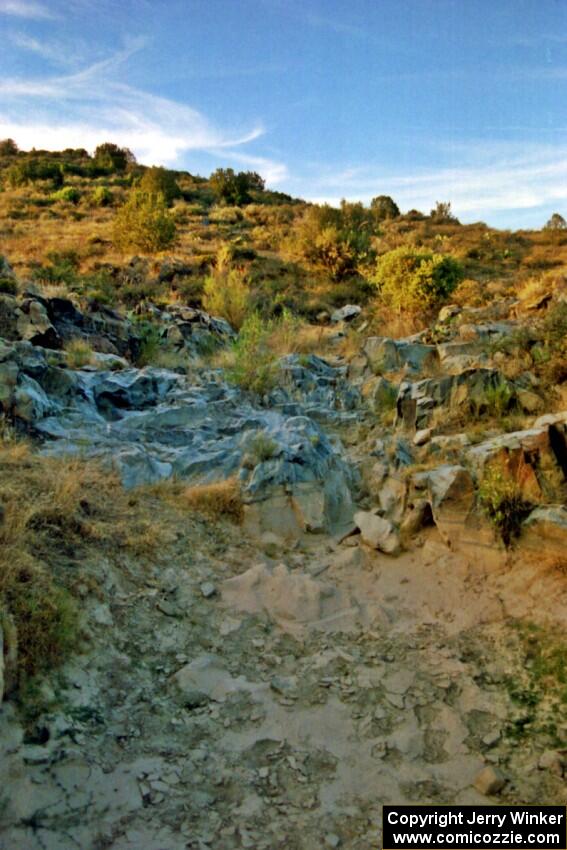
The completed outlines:
{"type": "Polygon", "coordinates": [[[116,213],[113,241],[121,251],[162,251],[175,239],[163,195],[135,190],[116,213]]]}

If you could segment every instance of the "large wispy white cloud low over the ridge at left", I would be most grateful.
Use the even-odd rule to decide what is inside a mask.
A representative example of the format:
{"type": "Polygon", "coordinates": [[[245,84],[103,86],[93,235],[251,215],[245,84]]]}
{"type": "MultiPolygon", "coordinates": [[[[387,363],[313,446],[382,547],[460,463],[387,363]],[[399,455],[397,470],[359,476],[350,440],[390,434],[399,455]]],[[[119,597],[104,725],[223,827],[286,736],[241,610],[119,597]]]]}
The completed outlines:
{"type": "MultiPolygon", "coordinates": [[[[261,170],[271,183],[286,176],[283,164],[239,151],[264,134],[260,123],[220,128],[186,104],[121,82],[121,66],[145,43],[131,41],[74,73],[0,81],[0,138],[13,138],[23,149],[92,150],[114,141],[142,162],[163,165],[180,164],[190,151],[222,152],[226,159],[261,170]]],[[[41,49],[51,51],[49,45],[41,49]]]]}

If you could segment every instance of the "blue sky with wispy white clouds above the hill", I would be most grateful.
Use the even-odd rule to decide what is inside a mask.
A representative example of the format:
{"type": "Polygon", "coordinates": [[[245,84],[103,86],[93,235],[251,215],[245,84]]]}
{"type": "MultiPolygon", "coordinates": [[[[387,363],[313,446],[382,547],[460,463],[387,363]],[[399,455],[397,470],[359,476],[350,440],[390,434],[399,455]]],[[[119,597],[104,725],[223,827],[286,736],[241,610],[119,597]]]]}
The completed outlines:
{"type": "Polygon", "coordinates": [[[0,138],[567,218],[567,0],[0,0],[0,138]]]}

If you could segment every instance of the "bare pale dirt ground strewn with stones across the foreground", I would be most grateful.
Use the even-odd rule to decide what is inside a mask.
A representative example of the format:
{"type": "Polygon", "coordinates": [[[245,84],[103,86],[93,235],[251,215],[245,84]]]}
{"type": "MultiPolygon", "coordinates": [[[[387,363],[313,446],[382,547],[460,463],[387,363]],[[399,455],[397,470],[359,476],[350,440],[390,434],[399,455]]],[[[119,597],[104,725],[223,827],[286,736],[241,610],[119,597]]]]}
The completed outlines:
{"type": "Polygon", "coordinates": [[[565,612],[564,577],[435,532],[398,559],[234,536],[85,565],[88,653],[27,738],[0,714],[2,850],[374,850],[383,803],[565,802],[560,696],[514,622],[565,612]]]}

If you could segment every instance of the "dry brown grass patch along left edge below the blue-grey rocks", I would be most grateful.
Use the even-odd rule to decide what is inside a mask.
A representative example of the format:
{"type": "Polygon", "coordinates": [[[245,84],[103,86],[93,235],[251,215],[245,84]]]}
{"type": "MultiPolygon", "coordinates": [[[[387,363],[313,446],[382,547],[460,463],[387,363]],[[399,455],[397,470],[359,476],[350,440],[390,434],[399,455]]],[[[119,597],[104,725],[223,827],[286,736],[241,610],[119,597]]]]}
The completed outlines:
{"type": "Polygon", "coordinates": [[[26,443],[4,437],[0,614],[15,688],[76,647],[73,589],[89,551],[148,555],[161,533],[113,474],[74,459],[39,457],[26,443]]]}

